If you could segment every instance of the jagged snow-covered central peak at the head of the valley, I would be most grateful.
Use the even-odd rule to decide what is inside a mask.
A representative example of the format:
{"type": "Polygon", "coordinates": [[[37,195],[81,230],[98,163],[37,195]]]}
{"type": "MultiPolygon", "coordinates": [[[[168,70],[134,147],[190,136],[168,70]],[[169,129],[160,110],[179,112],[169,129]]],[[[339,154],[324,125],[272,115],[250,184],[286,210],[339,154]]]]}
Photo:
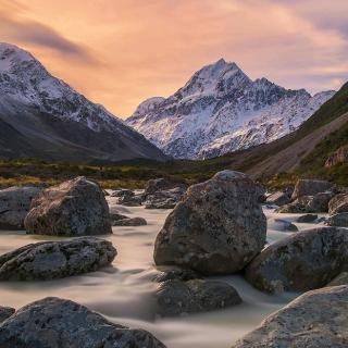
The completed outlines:
{"type": "Polygon", "coordinates": [[[251,80],[223,59],[173,96],[140,103],[126,123],[178,159],[204,159],[270,142],[310,117],[334,91],[311,96],[266,78],[251,80]]]}

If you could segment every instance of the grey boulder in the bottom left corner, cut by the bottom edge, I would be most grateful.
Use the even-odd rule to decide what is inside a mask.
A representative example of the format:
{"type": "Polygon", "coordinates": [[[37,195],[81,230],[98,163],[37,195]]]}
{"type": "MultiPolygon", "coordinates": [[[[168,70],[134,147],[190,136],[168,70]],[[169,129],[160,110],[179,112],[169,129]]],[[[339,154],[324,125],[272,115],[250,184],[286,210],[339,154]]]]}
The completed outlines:
{"type": "Polygon", "coordinates": [[[76,302],[48,297],[20,309],[0,325],[4,348],[165,348],[144,330],[109,322],[76,302]]]}

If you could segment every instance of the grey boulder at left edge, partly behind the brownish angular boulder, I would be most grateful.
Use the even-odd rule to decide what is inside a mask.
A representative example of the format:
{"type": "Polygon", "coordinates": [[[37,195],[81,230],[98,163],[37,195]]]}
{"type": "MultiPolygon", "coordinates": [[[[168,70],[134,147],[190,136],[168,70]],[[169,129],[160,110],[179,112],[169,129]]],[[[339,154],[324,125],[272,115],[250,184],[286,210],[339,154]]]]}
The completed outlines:
{"type": "Polygon", "coordinates": [[[0,190],[0,229],[23,229],[24,219],[38,187],[10,187],[0,190]]]}

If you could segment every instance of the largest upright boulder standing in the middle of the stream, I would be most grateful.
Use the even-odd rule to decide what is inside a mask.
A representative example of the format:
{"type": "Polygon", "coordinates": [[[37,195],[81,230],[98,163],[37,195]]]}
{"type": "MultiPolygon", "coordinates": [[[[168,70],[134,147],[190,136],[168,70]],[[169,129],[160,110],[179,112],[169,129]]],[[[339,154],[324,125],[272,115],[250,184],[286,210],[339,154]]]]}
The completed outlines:
{"type": "Polygon", "coordinates": [[[203,274],[240,271],[265,244],[259,197],[259,186],[232,171],[190,186],[157,236],[156,263],[203,274]]]}

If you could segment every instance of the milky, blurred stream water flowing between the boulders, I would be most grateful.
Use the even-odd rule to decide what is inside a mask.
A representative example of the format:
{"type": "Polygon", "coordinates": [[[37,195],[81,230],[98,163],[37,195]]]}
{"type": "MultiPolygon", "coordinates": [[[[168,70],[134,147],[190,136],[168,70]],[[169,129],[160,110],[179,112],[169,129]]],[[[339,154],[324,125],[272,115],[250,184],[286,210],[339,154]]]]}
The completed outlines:
{"type": "MultiPolygon", "coordinates": [[[[0,283],[0,306],[20,308],[47,296],[58,296],[85,304],[115,323],[146,328],[169,348],[227,348],[298,295],[265,295],[252,288],[241,276],[223,276],[216,278],[232,284],[243,298],[243,304],[176,319],[156,318],[152,294],[157,284],[151,282],[157,272],[152,259],[153,241],[170,211],[116,206],[115,198],[109,197],[108,201],[120,213],[142,216],[148,221],[147,226],[113,227],[113,235],[105,237],[119,252],[113,268],[50,282],[0,283]]],[[[277,214],[272,209],[264,209],[264,212],[269,222],[269,243],[289,235],[282,232],[282,223],[274,219],[294,222],[300,215],[277,214]]],[[[296,225],[299,229],[314,226],[296,225]]],[[[54,238],[0,231],[0,253],[48,239],[54,238]]]]}

